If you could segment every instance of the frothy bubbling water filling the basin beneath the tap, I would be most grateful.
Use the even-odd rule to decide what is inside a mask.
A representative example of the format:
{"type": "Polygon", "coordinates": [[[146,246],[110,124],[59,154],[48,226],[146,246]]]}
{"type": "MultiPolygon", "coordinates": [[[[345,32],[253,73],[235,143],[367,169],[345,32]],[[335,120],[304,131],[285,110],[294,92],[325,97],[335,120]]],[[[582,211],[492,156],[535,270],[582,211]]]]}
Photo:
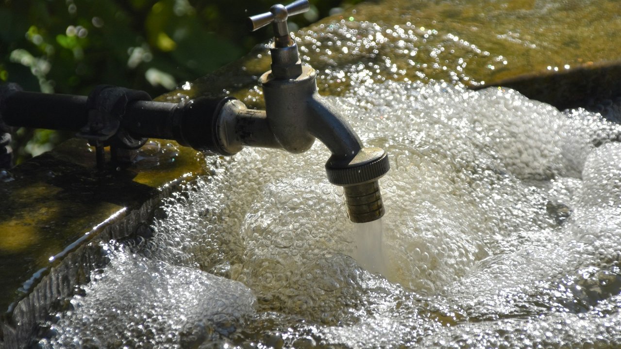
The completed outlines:
{"type": "Polygon", "coordinates": [[[40,343],[621,345],[618,125],[496,88],[329,99],[391,156],[381,227],[348,221],[321,144],[245,149],[166,200],[152,241],[111,249],[40,343]]]}

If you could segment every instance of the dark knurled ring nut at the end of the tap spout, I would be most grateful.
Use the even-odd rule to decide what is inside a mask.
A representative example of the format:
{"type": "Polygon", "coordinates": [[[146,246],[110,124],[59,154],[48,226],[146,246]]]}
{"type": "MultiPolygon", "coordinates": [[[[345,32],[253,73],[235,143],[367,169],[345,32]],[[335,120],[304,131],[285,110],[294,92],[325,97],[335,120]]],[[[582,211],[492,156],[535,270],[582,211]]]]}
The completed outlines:
{"type": "Polygon", "coordinates": [[[384,152],[383,156],[378,159],[360,166],[340,169],[326,167],[325,170],[330,183],[348,186],[379,179],[390,170],[390,162],[388,161],[388,154],[384,152]]]}

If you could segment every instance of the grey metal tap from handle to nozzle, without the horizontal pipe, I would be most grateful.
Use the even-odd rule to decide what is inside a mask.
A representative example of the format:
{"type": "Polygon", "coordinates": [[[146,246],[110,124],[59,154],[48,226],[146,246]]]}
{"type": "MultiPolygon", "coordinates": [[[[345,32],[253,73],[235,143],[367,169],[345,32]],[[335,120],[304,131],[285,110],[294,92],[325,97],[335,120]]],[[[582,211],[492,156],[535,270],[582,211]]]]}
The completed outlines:
{"type": "Polygon", "coordinates": [[[308,11],[307,0],[250,17],[252,30],[272,24],[271,71],[260,77],[266,119],[280,148],[306,151],[318,138],[332,156],[325,164],[328,179],[344,187],[351,221],[365,223],[384,215],[378,179],[390,169],[381,148],[365,148],[347,121],[317,92],[315,69],[302,65],[295,40],[289,35],[289,15],[308,11]]]}

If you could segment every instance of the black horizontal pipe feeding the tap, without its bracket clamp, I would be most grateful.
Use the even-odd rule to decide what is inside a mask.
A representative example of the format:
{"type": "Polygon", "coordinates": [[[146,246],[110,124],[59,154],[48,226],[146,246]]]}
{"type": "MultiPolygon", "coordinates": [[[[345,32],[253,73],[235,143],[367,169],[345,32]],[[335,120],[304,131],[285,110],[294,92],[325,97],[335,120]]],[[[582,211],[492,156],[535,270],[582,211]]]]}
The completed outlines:
{"type": "MultiPolygon", "coordinates": [[[[16,84],[7,85],[0,89],[0,120],[6,125],[88,135],[84,126],[91,112],[89,97],[25,92],[16,84]]],[[[183,104],[130,100],[117,115],[119,132],[134,138],[173,139],[197,150],[229,155],[218,143],[215,126],[222,105],[230,99],[199,98],[183,104]]]]}

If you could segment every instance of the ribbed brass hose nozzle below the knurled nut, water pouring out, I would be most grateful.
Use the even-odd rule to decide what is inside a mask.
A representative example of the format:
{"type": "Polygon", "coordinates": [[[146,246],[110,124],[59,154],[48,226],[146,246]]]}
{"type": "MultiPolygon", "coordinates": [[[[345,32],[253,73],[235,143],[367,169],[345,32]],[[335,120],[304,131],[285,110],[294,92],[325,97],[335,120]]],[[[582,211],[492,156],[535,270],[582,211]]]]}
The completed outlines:
{"type": "Polygon", "coordinates": [[[353,223],[367,223],[384,216],[384,203],[377,180],[345,187],[345,198],[353,223]]]}

